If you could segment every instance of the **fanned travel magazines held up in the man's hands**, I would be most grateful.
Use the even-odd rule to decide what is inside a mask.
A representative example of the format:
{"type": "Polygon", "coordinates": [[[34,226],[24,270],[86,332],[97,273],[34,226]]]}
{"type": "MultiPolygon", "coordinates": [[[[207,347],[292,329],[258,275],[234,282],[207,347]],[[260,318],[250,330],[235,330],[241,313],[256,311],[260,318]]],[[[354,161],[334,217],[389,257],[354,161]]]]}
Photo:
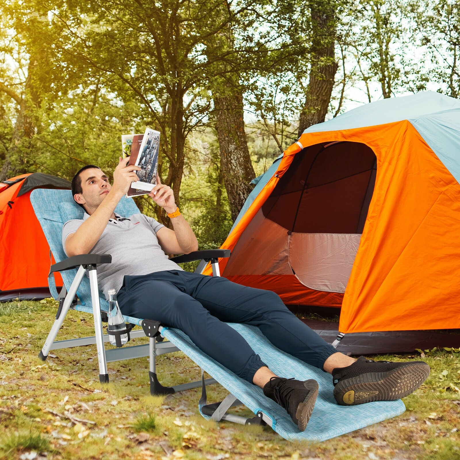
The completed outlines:
{"type": "Polygon", "coordinates": [[[156,184],[160,132],[147,128],[144,134],[121,136],[123,157],[129,154],[129,165],[140,166],[136,171],[138,181],[132,182],[126,196],[140,196],[150,193],[156,184]]]}

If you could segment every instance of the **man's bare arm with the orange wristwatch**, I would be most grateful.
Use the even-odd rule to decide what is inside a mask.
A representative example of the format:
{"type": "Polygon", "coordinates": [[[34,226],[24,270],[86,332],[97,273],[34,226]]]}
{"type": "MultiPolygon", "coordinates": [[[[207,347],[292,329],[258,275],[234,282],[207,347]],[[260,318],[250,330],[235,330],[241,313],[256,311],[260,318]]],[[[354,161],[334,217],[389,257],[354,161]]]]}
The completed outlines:
{"type": "MultiPolygon", "coordinates": [[[[174,200],[174,193],[171,187],[161,184],[160,177],[156,175],[156,185],[149,193],[149,196],[158,206],[165,209],[167,213],[173,213],[177,209],[174,200]]],[[[156,237],[161,249],[166,254],[188,254],[198,251],[198,240],[190,225],[181,214],[171,218],[174,230],[163,227],[157,231],[156,237]]]]}

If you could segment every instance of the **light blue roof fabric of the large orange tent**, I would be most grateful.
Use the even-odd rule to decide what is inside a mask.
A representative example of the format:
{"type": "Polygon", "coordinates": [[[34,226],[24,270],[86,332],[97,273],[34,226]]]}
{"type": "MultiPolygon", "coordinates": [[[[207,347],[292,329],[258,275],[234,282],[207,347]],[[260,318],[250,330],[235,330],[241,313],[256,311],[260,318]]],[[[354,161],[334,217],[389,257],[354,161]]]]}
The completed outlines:
{"type": "MultiPolygon", "coordinates": [[[[443,165],[460,183],[460,100],[437,92],[419,92],[410,96],[383,99],[364,104],[332,120],[307,128],[305,133],[343,131],[345,129],[384,125],[408,120],[437,155],[443,165]]],[[[254,190],[247,197],[230,233],[240,221],[256,196],[276,173],[280,155],[272,166],[258,178],[254,190]]]]}

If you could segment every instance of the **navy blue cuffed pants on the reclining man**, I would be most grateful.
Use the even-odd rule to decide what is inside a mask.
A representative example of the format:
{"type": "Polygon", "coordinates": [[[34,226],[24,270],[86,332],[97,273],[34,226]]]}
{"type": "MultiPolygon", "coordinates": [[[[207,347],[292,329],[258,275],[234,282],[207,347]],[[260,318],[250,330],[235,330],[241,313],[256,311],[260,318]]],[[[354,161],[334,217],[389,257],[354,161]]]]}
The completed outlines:
{"type": "Polygon", "coordinates": [[[201,351],[251,383],[266,364],[225,322],[257,326],[280,350],[317,368],[337,352],[293,315],[278,294],[220,276],[181,270],[125,276],[117,299],[124,315],[184,331],[201,351]]]}

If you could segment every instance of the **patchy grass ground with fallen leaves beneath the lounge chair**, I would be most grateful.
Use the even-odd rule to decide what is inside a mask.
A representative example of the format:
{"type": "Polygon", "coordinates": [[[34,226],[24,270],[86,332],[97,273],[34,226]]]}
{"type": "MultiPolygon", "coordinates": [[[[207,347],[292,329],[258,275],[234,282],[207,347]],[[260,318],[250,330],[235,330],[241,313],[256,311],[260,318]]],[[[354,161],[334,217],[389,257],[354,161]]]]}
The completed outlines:
{"type": "MultiPolygon", "coordinates": [[[[200,388],[151,397],[147,358],[109,363],[108,385],[98,380],[95,345],[54,350],[41,362],[37,355],[55,313],[51,300],[0,303],[0,459],[30,451],[50,460],[460,458],[458,350],[371,357],[422,359],[431,366],[425,384],[403,399],[406,412],[323,443],[292,443],[268,427],[203,419],[200,388]]],[[[70,311],[58,339],[91,335],[92,328],[91,315],[70,311]]],[[[157,372],[163,385],[201,378],[200,368],[180,352],[158,357],[157,372]]],[[[226,395],[220,385],[208,387],[210,402],[226,395]]],[[[251,415],[242,406],[232,411],[251,415]]]]}

